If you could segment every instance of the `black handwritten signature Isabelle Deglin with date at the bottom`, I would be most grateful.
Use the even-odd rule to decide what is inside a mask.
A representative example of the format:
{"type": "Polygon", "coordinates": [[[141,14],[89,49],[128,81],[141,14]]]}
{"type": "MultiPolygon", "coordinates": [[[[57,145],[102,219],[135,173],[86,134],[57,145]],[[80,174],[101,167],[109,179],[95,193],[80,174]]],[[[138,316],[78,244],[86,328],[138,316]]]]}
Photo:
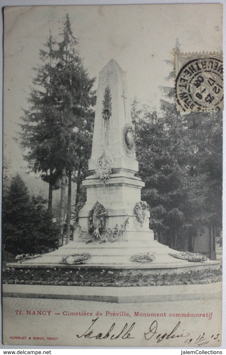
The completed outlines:
{"type": "MultiPolygon", "coordinates": [[[[125,323],[125,325],[122,327],[120,332],[115,332],[116,329],[116,323],[112,323],[109,330],[107,331],[101,331],[97,332],[95,330],[95,327],[97,326],[99,317],[96,319],[92,320],[92,324],[88,327],[88,329],[83,332],[82,334],[77,334],[77,338],[89,338],[89,339],[107,339],[109,338],[110,340],[115,340],[118,338],[121,339],[134,339],[135,338],[135,322],[133,322],[131,325],[128,325],[128,323],[125,323]]],[[[198,336],[196,335],[195,337],[192,337],[191,334],[184,329],[181,330],[181,322],[178,322],[176,326],[173,327],[173,329],[170,332],[162,332],[160,333],[158,331],[158,322],[154,320],[151,324],[149,329],[147,329],[147,332],[144,332],[144,338],[145,340],[150,340],[150,339],[155,339],[156,343],[160,343],[162,340],[169,340],[169,339],[175,339],[175,338],[184,338],[184,344],[188,345],[195,345],[195,346],[203,346],[209,344],[209,340],[216,340],[219,342],[219,335],[218,334],[212,334],[209,337],[205,335],[203,332],[202,334],[199,334],[198,336]]],[[[185,346],[186,346],[185,345],[185,346]]]]}

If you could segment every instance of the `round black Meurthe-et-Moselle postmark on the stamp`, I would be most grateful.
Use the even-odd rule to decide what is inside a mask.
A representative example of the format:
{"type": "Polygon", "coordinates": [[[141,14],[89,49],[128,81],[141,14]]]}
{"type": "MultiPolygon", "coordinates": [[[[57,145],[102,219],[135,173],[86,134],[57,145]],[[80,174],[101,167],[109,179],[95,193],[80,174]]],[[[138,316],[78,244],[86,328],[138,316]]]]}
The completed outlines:
{"type": "Polygon", "coordinates": [[[184,112],[222,110],[222,61],[198,58],[183,65],[176,77],[176,100],[184,112]]]}

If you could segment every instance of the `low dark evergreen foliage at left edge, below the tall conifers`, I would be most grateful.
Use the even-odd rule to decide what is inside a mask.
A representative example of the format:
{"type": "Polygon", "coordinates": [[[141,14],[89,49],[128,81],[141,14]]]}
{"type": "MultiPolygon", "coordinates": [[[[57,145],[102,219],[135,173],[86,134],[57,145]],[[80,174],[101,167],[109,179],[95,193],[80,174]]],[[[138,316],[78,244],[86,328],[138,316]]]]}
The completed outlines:
{"type": "Polygon", "coordinates": [[[2,202],[2,241],[5,251],[13,255],[35,254],[56,248],[59,226],[44,209],[41,196],[28,194],[20,175],[12,178],[2,202]]]}

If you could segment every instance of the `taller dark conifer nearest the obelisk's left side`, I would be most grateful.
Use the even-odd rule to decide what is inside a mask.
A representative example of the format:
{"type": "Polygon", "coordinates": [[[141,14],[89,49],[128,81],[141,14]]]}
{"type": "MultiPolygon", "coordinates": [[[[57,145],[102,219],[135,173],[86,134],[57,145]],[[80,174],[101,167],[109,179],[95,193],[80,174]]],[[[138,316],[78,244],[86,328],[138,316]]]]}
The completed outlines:
{"type": "MultiPolygon", "coordinates": [[[[84,153],[84,138],[89,137],[92,132],[93,110],[95,104],[95,93],[92,86],[95,79],[90,79],[88,73],[83,68],[83,63],[75,50],[77,39],[73,37],[69,16],[66,16],[62,41],[58,43],[57,69],[59,70],[59,86],[61,90],[61,156],[64,157],[62,166],[61,182],[61,203],[60,203],[60,226],[63,233],[64,225],[64,200],[65,200],[65,173],[68,181],[72,180],[72,174],[81,173],[81,162],[86,157],[84,153]]],[[[87,145],[87,144],[86,144],[87,145]]],[[[69,194],[71,188],[68,189],[69,194]]],[[[70,237],[71,220],[71,196],[68,196],[67,207],[67,236],[66,242],[70,237]]]]}

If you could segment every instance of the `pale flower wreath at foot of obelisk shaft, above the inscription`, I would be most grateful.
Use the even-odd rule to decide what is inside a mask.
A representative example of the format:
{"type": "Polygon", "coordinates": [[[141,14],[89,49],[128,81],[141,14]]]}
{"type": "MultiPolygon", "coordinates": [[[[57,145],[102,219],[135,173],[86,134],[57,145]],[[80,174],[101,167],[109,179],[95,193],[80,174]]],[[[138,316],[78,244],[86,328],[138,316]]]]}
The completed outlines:
{"type": "Polygon", "coordinates": [[[105,150],[104,153],[99,154],[95,162],[95,168],[97,175],[100,175],[100,180],[104,180],[104,192],[106,179],[110,179],[111,169],[113,168],[114,158],[112,154],[105,150]]]}

